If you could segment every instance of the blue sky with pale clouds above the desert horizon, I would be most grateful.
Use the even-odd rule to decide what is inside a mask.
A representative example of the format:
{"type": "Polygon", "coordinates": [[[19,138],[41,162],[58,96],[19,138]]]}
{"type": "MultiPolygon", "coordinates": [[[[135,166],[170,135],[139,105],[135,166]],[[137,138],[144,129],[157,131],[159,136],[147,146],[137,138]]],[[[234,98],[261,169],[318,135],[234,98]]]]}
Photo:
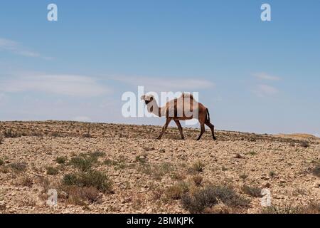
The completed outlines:
{"type": "Polygon", "coordinates": [[[162,125],[121,115],[145,86],[198,91],[218,129],[319,135],[319,24],[317,0],[1,2],[0,120],[162,125]]]}

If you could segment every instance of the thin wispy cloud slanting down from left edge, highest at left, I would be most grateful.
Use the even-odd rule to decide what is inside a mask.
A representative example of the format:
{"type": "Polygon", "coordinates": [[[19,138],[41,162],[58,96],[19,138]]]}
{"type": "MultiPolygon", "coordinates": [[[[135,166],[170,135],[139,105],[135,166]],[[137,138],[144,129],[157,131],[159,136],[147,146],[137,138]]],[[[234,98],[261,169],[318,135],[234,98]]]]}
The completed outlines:
{"type": "Polygon", "coordinates": [[[11,53],[15,53],[19,56],[26,56],[26,57],[41,57],[45,59],[50,59],[48,57],[43,57],[40,55],[40,53],[37,53],[36,51],[28,50],[28,48],[25,48],[21,45],[21,43],[18,43],[16,41],[11,41],[6,38],[0,38],[0,51],[9,51],[11,53]]]}

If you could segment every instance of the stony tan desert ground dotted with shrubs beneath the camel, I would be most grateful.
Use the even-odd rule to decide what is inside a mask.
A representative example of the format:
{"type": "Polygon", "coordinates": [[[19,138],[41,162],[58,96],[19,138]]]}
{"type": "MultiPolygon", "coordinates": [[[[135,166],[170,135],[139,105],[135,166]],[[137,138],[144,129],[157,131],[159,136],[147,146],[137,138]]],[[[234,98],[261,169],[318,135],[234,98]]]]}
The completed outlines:
{"type": "Polygon", "coordinates": [[[319,213],[320,139],[0,122],[0,213],[319,213]],[[261,190],[271,192],[262,207],[261,190]],[[48,190],[58,204],[47,205],[48,190]]]}

